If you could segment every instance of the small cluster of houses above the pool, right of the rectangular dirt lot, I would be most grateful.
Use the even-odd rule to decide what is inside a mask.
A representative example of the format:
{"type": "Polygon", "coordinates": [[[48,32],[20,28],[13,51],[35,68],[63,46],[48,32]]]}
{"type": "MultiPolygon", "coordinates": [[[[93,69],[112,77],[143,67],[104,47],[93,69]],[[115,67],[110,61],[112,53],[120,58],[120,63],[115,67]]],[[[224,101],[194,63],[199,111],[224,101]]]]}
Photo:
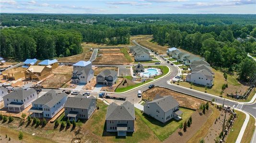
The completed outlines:
{"type": "Polygon", "coordinates": [[[152,60],[152,56],[150,55],[150,52],[138,46],[130,47],[130,53],[134,55],[135,61],[151,61],[152,60]]]}

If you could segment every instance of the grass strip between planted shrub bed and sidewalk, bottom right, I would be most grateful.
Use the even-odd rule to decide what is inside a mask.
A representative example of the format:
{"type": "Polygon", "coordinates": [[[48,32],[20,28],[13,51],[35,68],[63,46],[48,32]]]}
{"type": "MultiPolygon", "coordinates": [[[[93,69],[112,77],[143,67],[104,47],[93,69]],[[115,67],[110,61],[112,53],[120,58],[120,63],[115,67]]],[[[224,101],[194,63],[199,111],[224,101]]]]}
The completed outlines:
{"type": "Polygon", "coordinates": [[[240,112],[240,111],[235,111],[235,112],[237,113],[237,119],[234,122],[234,125],[231,128],[229,135],[226,138],[226,143],[235,143],[238,137],[238,134],[243,126],[244,119],[246,117],[246,115],[243,112],[240,112]]]}

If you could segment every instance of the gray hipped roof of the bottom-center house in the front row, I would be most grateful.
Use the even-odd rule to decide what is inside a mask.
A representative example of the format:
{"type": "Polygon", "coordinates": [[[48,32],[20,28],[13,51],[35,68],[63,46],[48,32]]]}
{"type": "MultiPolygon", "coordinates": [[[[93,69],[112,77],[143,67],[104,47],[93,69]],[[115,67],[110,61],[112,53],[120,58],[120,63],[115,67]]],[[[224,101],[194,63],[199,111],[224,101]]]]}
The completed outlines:
{"type": "Polygon", "coordinates": [[[135,120],[134,105],[128,101],[121,105],[112,102],[107,107],[106,120],[135,120]]]}

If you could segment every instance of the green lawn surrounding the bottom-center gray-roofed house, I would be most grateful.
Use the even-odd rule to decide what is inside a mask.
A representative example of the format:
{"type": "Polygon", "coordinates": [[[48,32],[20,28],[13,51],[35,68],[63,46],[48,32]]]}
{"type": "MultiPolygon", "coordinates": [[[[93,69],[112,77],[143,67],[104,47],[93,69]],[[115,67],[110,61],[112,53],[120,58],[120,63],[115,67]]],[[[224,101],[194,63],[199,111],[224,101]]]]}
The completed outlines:
{"type": "Polygon", "coordinates": [[[146,140],[152,142],[159,142],[154,133],[149,127],[143,123],[140,116],[138,115],[139,110],[135,109],[135,132],[127,133],[126,137],[117,137],[117,133],[108,133],[105,131],[105,115],[107,112],[107,105],[97,100],[99,110],[95,111],[91,118],[85,123],[85,128],[95,135],[99,136],[103,142],[118,142],[118,143],[140,143],[146,140]]]}

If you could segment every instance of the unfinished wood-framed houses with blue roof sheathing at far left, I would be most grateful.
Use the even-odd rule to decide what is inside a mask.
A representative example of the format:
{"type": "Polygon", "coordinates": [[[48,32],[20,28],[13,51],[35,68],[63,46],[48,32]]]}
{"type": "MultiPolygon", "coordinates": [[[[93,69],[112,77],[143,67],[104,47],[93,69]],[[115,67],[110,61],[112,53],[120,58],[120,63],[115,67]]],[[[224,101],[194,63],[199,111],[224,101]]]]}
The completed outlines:
{"type": "Polygon", "coordinates": [[[3,79],[18,80],[25,77],[26,80],[40,81],[52,73],[52,69],[58,67],[57,60],[27,59],[22,67],[13,68],[2,72],[3,79]]]}

